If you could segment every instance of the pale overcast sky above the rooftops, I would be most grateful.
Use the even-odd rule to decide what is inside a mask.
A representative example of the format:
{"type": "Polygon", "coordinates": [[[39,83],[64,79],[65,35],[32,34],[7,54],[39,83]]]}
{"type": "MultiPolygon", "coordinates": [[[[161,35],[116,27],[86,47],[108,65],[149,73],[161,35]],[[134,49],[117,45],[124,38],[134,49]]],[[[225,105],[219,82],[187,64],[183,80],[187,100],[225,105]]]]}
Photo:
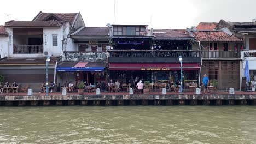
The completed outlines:
{"type": "MultiPolygon", "coordinates": [[[[2,1],[0,25],[9,20],[31,21],[39,11],[80,13],[85,26],[113,23],[114,0],[2,1]]],[[[254,0],[116,0],[115,24],[148,24],[154,29],[180,29],[201,22],[252,21],[254,0]],[[151,25],[150,25],[151,23],[151,25]]]]}

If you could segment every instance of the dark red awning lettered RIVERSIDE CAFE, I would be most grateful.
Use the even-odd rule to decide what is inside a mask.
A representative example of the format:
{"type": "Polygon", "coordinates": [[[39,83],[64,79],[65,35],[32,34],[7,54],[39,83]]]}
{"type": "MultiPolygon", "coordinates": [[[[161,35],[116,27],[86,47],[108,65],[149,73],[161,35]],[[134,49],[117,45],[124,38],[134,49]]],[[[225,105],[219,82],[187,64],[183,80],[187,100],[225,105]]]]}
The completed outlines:
{"type": "MultiPolygon", "coordinates": [[[[183,63],[184,70],[199,70],[199,63],[183,63]]],[[[109,70],[180,70],[180,63],[110,63],[109,70]]]]}

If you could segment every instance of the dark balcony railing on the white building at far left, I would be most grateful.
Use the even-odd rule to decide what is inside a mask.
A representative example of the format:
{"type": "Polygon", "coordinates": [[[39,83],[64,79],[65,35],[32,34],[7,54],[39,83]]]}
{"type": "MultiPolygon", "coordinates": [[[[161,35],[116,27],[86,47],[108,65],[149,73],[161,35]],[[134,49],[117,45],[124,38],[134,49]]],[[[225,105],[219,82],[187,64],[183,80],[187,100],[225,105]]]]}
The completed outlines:
{"type": "Polygon", "coordinates": [[[43,45],[13,45],[14,54],[42,54],[43,45]]]}

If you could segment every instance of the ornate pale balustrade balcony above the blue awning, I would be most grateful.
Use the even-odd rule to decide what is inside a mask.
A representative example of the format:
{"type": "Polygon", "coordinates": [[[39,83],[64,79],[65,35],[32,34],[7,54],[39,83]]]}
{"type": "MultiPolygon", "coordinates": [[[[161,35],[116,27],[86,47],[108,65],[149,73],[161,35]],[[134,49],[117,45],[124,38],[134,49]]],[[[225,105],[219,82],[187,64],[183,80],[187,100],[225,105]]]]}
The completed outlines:
{"type": "Polygon", "coordinates": [[[106,61],[106,52],[65,51],[65,61],[106,61]]]}

